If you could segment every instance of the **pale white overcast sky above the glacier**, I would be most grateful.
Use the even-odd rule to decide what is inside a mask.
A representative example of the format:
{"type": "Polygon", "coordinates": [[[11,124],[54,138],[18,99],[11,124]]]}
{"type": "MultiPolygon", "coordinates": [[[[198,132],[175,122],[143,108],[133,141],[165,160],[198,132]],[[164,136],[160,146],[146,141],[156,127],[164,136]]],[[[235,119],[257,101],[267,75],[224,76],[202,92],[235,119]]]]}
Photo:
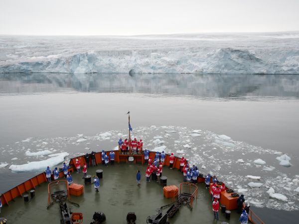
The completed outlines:
{"type": "Polygon", "coordinates": [[[0,0],[0,34],[299,30],[299,0],[0,0]]]}

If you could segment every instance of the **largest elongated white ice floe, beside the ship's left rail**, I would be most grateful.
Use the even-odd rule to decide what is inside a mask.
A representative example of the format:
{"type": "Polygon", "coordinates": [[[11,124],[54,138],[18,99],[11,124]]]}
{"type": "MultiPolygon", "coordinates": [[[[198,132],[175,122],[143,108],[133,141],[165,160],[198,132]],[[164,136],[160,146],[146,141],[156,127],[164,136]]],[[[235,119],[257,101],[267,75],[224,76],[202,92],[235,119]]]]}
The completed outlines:
{"type": "Polygon", "coordinates": [[[23,165],[11,165],[9,170],[14,172],[30,172],[30,171],[43,171],[47,166],[54,167],[64,161],[64,157],[68,156],[68,153],[61,153],[61,155],[52,157],[47,160],[30,162],[23,165]]]}

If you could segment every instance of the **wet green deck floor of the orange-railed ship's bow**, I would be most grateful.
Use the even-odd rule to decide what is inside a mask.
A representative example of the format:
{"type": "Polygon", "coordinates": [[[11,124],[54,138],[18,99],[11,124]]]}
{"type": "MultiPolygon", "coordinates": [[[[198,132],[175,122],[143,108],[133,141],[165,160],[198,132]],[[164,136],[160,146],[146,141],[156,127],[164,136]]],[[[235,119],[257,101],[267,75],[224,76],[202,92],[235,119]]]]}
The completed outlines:
{"type": "MultiPolygon", "coordinates": [[[[95,212],[103,212],[106,215],[106,224],[127,224],[126,216],[129,212],[135,212],[136,224],[145,224],[147,217],[156,215],[156,209],[172,202],[172,199],[164,198],[163,187],[156,182],[146,182],[146,165],[120,163],[105,167],[89,168],[87,174],[95,175],[97,169],[103,170],[103,179],[100,180],[99,193],[95,192],[94,185],[84,185],[83,174],[73,173],[73,183],[84,185],[84,194],[71,196],[71,201],[78,203],[72,207],[72,212],[83,213],[83,224],[90,224],[95,212]],[[141,186],[137,186],[137,170],[142,173],[141,186]]],[[[163,176],[167,177],[167,185],[179,186],[183,176],[177,169],[163,168],[163,176]]],[[[63,178],[62,178],[63,179],[63,178]]],[[[219,221],[214,220],[212,202],[208,190],[203,183],[198,183],[198,198],[193,203],[193,210],[187,206],[181,206],[176,215],[168,222],[170,224],[220,224],[227,222],[237,224],[239,215],[232,211],[231,219],[225,219],[225,215],[219,211],[219,221]]],[[[3,206],[1,217],[11,224],[59,224],[60,212],[57,203],[46,209],[48,200],[48,184],[43,183],[35,188],[35,197],[28,203],[23,198],[17,197],[9,206],[3,206]]],[[[163,214],[169,207],[163,209],[163,214]]]]}

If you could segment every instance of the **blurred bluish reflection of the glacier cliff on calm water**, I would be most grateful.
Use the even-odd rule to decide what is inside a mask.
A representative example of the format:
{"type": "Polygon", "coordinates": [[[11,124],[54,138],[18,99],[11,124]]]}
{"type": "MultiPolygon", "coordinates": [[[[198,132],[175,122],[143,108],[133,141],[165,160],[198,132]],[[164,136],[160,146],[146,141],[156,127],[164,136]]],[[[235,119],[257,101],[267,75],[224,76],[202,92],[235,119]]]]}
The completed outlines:
{"type": "Polygon", "coordinates": [[[299,75],[0,74],[0,94],[56,91],[189,95],[201,98],[299,98],[299,75]]]}

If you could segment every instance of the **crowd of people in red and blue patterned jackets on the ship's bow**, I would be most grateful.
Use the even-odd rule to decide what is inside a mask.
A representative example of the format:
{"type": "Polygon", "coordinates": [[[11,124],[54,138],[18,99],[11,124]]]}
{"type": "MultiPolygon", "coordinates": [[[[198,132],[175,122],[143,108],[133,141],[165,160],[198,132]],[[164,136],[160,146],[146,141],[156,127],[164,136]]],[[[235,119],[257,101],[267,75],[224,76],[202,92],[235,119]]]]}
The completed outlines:
{"type": "MultiPolygon", "coordinates": [[[[119,144],[119,151],[123,154],[127,154],[127,153],[142,154],[143,153],[145,163],[148,164],[148,166],[146,168],[146,172],[145,172],[146,182],[150,182],[150,180],[152,179],[153,176],[156,177],[155,178],[156,182],[159,182],[160,177],[162,176],[162,170],[163,170],[163,165],[164,165],[163,163],[166,158],[166,154],[164,153],[164,151],[162,151],[161,153],[156,152],[154,157],[149,157],[149,150],[145,149],[145,151],[143,151],[142,140],[137,141],[136,138],[133,141],[128,141],[128,139],[125,139],[125,141],[122,141],[122,139],[120,139],[118,141],[118,144],[119,144]]],[[[111,151],[109,153],[109,156],[107,154],[104,150],[102,150],[101,161],[102,161],[102,164],[105,165],[106,167],[109,165],[109,163],[113,165],[114,161],[115,161],[115,152],[114,151],[111,151]]],[[[92,166],[92,167],[98,166],[98,164],[96,162],[96,153],[94,151],[92,151],[91,154],[87,153],[84,156],[84,158],[85,158],[86,163],[83,164],[83,177],[82,178],[86,177],[87,168],[89,168],[90,166],[92,166]]],[[[174,161],[175,161],[175,157],[174,157],[173,153],[171,153],[171,155],[169,156],[169,169],[173,169],[174,161]]],[[[182,172],[182,174],[183,174],[183,181],[192,183],[192,184],[197,184],[197,178],[199,176],[201,176],[198,168],[195,165],[192,165],[190,167],[188,161],[184,157],[182,157],[180,159],[179,164],[180,164],[179,171],[182,172]]],[[[81,162],[78,159],[76,159],[75,168],[76,168],[77,173],[81,172],[81,162]]],[[[68,169],[69,169],[69,167],[65,163],[63,163],[62,171],[63,171],[64,177],[67,179],[68,185],[71,185],[73,183],[73,180],[72,180],[71,173],[68,172],[68,169]]],[[[47,167],[47,169],[45,170],[45,175],[46,175],[46,178],[49,183],[51,182],[51,174],[52,173],[51,173],[50,168],[47,167]]],[[[57,180],[59,178],[59,171],[58,171],[57,167],[53,171],[53,177],[54,177],[54,180],[57,180]]],[[[210,191],[211,198],[212,198],[212,210],[213,210],[214,218],[216,220],[219,220],[218,211],[219,211],[219,206],[220,206],[220,204],[219,204],[220,195],[221,195],[221,192],[225,191],[227,188],[224,183],[221,183],[219,185],[219,182],[218,182],[216,176],[212,177],[210,174],[207,174],[204,178],[205,178],[206,189],[210,189],[209,191],[210,191]],[[211,188],[210,188],[210,184],[211,184],[211,188]]],[[[140,183],[141,172],[139,170],[136,175],[136,180],[137,180],[137,185],[141,186],[141,183],[140,183]]],[[[100,179],[97,176],[95,176],[93,184],[94,184],[95,191],[99,192],[100,179]]],[[[241,195],[237,200],[237,212],[239,214],[241,214],[239,222],[241,222],[241,224],[247,224],[249,206],[248,206],[248,204],[245,204],[244,195],[241,195]]]]}

